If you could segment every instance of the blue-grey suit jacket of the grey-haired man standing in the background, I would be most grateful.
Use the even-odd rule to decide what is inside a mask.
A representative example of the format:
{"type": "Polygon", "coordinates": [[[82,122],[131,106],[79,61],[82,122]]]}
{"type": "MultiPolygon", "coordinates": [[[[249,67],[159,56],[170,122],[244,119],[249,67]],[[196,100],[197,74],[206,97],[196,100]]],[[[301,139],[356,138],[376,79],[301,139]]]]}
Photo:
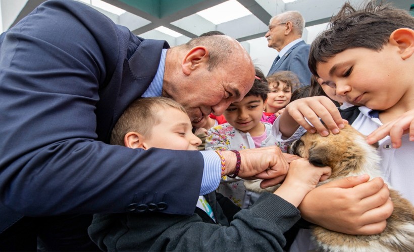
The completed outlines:
{"type": "Polygon", "coordinates": [[[278,60],[274,68],[271,68],[268,77],[278,71],[292,71],[299,78],[302,86],[310,85],[310,73],[307,66],[309,57],[310,45],[304,41],[293,45],[281,58],[278,60]]]}

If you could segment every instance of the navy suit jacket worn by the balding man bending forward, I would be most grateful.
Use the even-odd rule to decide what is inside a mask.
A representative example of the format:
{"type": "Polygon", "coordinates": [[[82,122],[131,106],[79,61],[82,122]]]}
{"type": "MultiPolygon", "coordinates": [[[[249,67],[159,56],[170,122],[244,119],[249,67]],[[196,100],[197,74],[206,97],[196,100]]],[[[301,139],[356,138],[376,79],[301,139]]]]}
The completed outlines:
{"type": "Polygon", "coordinates": [[[165,41],[61,0],[0,43],[0,232],[21,215],[194,212],[199,152],[108,144],[156,74],[165,41]]]}

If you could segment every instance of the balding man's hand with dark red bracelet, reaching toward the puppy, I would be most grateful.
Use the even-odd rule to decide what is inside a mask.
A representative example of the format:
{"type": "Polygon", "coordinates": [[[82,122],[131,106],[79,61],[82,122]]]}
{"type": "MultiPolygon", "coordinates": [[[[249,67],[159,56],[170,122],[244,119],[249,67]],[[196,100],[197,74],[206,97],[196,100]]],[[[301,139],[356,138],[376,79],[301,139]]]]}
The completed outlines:
{"type": "MultiPolygon", "coordinates": [[[[225,175],[233,174],[236,167],[236,155],[223,151],[226,160],[225,175]]],[[[240,151],[240,171],[238,176],[245,179],[264,179],[262,188],[276,185],[283,181],[289,169],[289,162],[297,156],[282,153],[279,147],[269,146],[240,151]]]]}

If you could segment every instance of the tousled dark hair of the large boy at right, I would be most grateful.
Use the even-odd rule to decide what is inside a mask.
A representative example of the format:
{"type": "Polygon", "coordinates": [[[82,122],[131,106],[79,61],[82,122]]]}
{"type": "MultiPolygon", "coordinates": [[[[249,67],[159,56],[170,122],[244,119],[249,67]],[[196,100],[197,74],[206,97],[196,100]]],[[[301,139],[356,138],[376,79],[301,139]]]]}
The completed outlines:
{"type": "Polygon", "coordinates": [[[329,28],[310,45],[308,66],[317,74],[318,62],[350,48],[363,47],[381,51],[393,31],[399,28],[414,30],[414,17],[405,10],[372,0],[361,10],[345,3],[331,18],[329,28]]]}

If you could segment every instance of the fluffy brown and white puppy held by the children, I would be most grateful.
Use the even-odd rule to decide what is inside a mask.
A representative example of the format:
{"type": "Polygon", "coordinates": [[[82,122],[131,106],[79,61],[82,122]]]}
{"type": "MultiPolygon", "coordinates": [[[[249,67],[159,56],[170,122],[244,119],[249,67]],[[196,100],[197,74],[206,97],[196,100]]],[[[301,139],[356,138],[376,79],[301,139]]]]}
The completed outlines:
{"type": "MultiPolygon", "coordinates": [[[[330,166],[332,175],[323,183],[361,174],[382,176],[377,146],[370,146],[365,136],[347,125],[339,134],[322,137],[304,134],[291,146],[293,154],[307,158],[315,166],[330,166]]],[[[414,207],[398,192],[390,189],[394,212],[385,230],[376,235],[349,235],[313,227],[317,250],[323,251],[414,251],[414,207]]]]}

